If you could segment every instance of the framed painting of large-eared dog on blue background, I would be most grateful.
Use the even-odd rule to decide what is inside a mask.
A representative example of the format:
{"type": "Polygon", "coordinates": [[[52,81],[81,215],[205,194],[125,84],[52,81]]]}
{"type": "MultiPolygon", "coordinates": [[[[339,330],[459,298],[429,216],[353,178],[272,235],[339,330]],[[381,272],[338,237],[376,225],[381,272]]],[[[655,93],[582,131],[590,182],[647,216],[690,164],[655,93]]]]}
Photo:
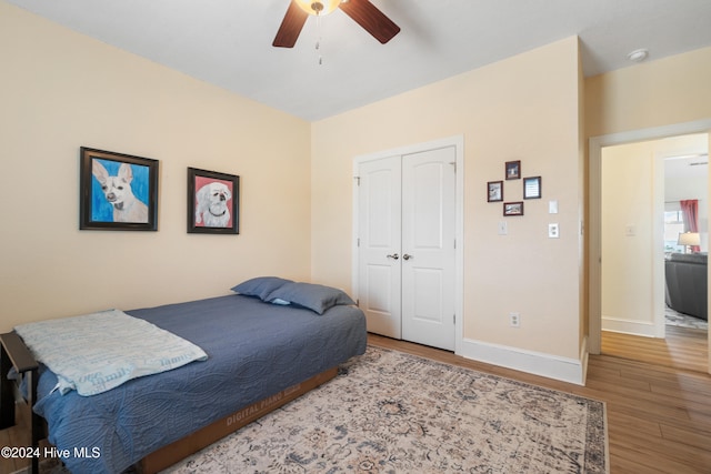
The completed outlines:
{"type": "Polygon", "coordinates": [[[158,230],[158,161],[80,149],[80,230],[158,230]]]}

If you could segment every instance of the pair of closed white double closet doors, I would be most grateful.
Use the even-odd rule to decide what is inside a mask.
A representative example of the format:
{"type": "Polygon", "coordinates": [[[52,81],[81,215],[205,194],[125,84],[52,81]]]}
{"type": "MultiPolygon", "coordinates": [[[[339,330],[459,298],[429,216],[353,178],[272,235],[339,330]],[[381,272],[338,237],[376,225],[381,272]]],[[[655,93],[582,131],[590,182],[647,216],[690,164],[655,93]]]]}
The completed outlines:
{"type": "Polygon", "coordinates": [[[369,332],[458,350],[462,155],[455,138],[354,159],[353,288],[369,332]]]}

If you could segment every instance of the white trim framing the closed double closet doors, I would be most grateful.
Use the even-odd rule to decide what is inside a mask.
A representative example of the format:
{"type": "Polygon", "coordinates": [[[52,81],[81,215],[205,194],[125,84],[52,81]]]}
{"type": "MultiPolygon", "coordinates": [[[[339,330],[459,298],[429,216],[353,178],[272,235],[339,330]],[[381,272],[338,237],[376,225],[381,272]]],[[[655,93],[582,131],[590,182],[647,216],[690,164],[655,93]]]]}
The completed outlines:
{"type": "Polygon", "coordinates": [[[454,288],[454,307],[457,320],[454,324],[454,353],[459,354],[462,346],[463,334],[463,314],[464,314],[464,135],[449,137],[440,140],[433,140],[424,143],[405,145],[391,150],[383,150],[375,153],[362,154],[353,158],[353,191],[352,191],[352,230],[351,238],[351,286],[353,294],[359,294],[358,288],[358,167],[365,161],[379,160],[395,154],[411,154],[422,151],[435,150],[445,147],[454,147],[455,149],[455,167],[457,167],[457,194],[454,196],[454,236],[457,240],[455,248],[455,288],[454,288]]]}

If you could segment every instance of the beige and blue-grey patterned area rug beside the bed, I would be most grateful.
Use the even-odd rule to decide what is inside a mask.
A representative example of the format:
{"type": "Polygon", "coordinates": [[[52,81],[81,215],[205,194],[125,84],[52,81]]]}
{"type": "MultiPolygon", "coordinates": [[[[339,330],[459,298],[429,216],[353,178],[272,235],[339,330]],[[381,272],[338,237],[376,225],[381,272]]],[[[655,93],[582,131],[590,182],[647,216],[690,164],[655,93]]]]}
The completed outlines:
{"type": "Polygon", "coordinates": [[[605,473],[604,403],[369,346],[164,473],[605,473]]]}

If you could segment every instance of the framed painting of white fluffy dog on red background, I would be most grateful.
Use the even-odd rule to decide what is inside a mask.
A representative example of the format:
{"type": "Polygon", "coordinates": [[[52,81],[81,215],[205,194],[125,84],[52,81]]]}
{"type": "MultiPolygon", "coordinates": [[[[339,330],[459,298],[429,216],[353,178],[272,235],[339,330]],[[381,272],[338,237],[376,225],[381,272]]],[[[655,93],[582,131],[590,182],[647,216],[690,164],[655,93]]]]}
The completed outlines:
{"type": "Polygon", "coordinates": [[[240,177],[188,168],[188,233],[239,234],[240,177]]]}

